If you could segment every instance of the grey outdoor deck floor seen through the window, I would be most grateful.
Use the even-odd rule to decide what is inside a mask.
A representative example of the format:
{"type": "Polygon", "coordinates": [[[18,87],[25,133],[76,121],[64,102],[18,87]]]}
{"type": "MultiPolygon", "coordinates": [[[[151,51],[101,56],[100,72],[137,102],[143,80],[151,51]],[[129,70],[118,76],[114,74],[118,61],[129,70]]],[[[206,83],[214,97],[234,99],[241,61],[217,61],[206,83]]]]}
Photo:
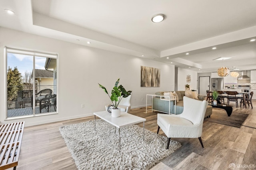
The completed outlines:
{"type": "MultiPolygon", "coordinates": [[[[40,114],[39,106],[35,107],[36,114],[40,114]]],[[[55,112],[54,107],[49,107],[49,112],[55,112]]],[[[47,113],[47,109],[42,109],[42,113],[47,113]]],[[[17,116],[24,116],[24,115],[33,115],[32,107],[25,107],[25,108],[18,108],[18,109],[8,109],[7,110],[8,117],[17,117],[17,116]]]]}

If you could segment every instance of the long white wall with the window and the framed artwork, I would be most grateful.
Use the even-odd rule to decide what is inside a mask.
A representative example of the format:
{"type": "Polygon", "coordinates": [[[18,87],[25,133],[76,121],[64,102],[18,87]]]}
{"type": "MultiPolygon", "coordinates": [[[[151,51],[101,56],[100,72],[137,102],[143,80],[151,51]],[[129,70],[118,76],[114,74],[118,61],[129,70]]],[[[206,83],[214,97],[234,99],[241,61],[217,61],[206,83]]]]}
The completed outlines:
{"type": "MultiPolygon", "coordinates": [[[[104,51],[38,35],[0,27],[0,75],[4,75],[4,47],[21,47],[58,53],[58,114],[5,120],[4,78],[0,76],[0,122],[26,121],[25,125],[37,125],[66,119],[85,117],[104,110],[110,104],[107,94],[120,78],[126,90],[132,90],[131,105],[146,105],[146,94],[174,90],[174,65],[160,63],[130,55],[104,51]],[[140,87],[140,66],[160,68],[160,87],[140,87]],[[143,98],[143,101],[142,101],[143,98]],[[85,107],[81,108],[81,104],[85,107]]],[[[74,40],[75,41],[75,40],[74,40]]]]}

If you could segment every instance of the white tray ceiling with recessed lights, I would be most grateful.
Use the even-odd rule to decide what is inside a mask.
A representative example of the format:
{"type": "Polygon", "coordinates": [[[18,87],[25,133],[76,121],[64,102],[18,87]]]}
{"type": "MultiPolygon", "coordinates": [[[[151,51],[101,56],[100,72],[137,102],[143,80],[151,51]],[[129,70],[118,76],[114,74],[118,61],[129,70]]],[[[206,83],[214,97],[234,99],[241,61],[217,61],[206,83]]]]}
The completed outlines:
{"type": "Polygon", "coordinates": [[[255,0],[1,0],[0,26],[198,72],[256,70],[255,9],[255,0]],[[156,14],[165,20],[153,23],[156,14]]]}

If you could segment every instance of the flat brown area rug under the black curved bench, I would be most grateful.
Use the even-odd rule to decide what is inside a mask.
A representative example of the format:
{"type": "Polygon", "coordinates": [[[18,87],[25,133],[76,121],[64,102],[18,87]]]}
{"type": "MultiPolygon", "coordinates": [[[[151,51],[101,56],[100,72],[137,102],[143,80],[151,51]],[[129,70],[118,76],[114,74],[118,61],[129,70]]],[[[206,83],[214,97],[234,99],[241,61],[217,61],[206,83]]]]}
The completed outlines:
{"type": "Polygon", "coordinates": [[[212,109],[212,115],[210,118],[205,118],[206,121],[219,123],[222,125],[228,125],[232,127],[240,128],[248,114],[245,113],[232,113],[230,117],[228,117],[226,111],[224,109],[212,109]]]}

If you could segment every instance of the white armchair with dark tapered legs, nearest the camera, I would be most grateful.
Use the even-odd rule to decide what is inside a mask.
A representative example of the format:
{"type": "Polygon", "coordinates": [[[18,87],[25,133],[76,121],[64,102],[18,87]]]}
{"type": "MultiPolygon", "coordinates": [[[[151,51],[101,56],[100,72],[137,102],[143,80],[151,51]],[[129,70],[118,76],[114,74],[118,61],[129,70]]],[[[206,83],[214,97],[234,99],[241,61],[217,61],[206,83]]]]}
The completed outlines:
{"type": "Polygon", "coordinates": [[[198,138],[204,147],[201,135],[207,105],[206,100],[200,101],[184,96],[184,110],[181,114],[157,114],[157,133],[161,128],[168,137],[166,149],[169,148],[171,138],[198,138]]]}

